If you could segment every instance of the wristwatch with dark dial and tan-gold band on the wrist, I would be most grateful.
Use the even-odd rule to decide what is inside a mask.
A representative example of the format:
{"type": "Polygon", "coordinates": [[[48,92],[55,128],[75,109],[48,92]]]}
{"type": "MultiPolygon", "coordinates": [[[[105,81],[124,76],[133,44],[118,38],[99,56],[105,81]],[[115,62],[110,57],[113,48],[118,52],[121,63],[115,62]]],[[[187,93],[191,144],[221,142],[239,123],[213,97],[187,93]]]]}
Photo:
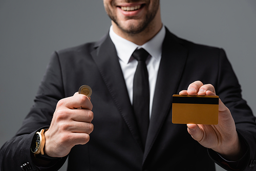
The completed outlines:
{"type": "Polygon", "coordinates": [[[41,154],[44,155],[44,147],[45,147],[45,132],[48,129],[42,129],[40,132],[36,132],[31,144],[31,151],[34,156],[41,154]]]}

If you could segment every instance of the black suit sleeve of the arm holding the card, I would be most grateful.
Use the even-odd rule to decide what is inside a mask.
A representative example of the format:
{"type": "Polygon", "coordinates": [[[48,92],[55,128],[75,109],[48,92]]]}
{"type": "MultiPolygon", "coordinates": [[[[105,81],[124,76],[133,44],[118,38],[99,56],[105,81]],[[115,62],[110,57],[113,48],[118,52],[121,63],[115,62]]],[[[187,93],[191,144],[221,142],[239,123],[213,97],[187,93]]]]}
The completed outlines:
{"type": "Polygon", "coordinates": [[[256,123],[255,117],[246,101],[242,98],[241,87],[234,74],[224,50],[220,50],[218,86],[216,88],[222,102],[230,110],[236,123],[237,132],[246,154],[234,164],[223,161],[218,155],[209,151],[210,157],[226,170],[253,170],[256,164],[256,123]],[[232,165],[232,168],[230,167],[232,165]]]}

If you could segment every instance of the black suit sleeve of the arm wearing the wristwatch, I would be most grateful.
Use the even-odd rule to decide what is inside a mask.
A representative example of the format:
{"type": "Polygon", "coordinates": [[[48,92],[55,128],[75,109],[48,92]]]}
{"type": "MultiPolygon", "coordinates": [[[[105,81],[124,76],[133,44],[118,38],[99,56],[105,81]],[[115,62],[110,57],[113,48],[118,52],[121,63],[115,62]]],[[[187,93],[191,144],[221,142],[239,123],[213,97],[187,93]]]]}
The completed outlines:
{"type": "Polygon", "coordinates": [[[32,138],[41,127],[49,126],[57,102],[64,98],[61,67],[57,53],[52,55],[47,72],[41,81],[34,104],[16,135],[0,151],[0,170],[58,170],[66,158],[60,158],[50,167],[38,167],[30,151],[32,138]],[[23,168],[23,169],[22,169],[23,168]]]}

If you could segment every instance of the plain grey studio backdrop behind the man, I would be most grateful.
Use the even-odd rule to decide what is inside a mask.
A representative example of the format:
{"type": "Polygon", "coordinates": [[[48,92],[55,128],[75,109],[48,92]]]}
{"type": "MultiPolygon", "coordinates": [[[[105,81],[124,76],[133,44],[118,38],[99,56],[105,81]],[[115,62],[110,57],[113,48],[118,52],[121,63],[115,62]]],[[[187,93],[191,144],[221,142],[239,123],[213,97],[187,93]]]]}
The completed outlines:
{"type": "MultiPolygon", "coordinates": [[[[256,2],[162,0],[161,13],[179,37],[226,50],[255,113],[256,2]]],[[[0,146],[29,112],[51,53],[98,40],[110,25],[100,0],[0,0],[0,146]]]]}

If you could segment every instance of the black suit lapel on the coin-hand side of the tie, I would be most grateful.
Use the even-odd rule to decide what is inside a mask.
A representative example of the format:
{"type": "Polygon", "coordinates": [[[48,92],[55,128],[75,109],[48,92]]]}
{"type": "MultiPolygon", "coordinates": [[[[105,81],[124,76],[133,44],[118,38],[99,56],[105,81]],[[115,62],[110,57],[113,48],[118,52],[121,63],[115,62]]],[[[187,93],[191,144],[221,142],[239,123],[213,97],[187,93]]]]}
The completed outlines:
{"type": "Polygon", "coordinates": [[[94,48],[95,50],[91,52],[91,55],[105,82],[105,86],[108,88],[119,113],[122,115],[133,137],[141,146],[135,116],[118,61],[116,48],[109,34],[97,42],[94,48]]]}

